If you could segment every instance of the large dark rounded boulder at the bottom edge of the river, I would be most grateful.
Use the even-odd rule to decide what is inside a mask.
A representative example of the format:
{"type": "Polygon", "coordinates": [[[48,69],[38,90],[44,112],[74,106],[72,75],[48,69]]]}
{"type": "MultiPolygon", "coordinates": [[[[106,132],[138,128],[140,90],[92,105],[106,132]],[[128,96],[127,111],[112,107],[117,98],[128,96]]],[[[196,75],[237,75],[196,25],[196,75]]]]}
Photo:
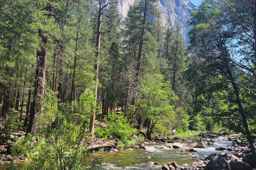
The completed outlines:
{"type": "Polygon", "coordinates": [[[204,170],[231,170],[228,162],[222,156],[215,156],[212,158],[208,164],[206,164],[204,170]]]}

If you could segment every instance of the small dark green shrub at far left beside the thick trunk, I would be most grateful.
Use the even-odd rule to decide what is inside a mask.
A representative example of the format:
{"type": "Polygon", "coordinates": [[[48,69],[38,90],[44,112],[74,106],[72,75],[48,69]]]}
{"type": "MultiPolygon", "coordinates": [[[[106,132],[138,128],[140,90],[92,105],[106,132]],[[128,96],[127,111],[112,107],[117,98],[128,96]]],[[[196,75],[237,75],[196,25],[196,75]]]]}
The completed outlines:
{"type": "Polygon", "coordinates": [[[12,132],[17,131],[17,128],[19,125],[22,125],[22,123],[17,122],[18,115],[12,114],[9,116],[6,116],[6,119],[4,120],[4,131],[5,135],[8,137],[12,132]]]}

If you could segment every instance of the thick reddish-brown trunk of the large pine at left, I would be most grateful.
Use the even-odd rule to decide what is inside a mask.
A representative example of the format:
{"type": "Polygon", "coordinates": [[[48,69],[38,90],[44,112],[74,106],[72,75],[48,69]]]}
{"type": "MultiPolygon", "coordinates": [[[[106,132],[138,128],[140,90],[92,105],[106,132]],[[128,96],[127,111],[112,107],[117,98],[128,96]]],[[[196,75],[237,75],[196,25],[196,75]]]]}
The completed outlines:
{"type": "MultiPolygon", "coordinates": [[[[50,2],[53,2],[51,0],[50,2]]],[[[52,6],[47,4],[45,7],[45,11],[48,11],[48,18],[51,19],[52,14],[52,6]]],[[[35,89],[33,102],[31,105],[31,111],[29,114],[29,123],[26,131],[26,135],[32,130],[35,129],[34,125],[36,122],[36,116],[39,114],[40,107],[40,99],[44,96],[45,92],[45,70],[46,70],[46,59],[47,59],[47,44],[49,40],[49,36],[43,35],[43,30],[39,30],[39,37],[42,39],[43,45],[41,45],[41,50],[37,50],[37,66],[36,66],[36,76],[35,76],[35,89]]]]}

